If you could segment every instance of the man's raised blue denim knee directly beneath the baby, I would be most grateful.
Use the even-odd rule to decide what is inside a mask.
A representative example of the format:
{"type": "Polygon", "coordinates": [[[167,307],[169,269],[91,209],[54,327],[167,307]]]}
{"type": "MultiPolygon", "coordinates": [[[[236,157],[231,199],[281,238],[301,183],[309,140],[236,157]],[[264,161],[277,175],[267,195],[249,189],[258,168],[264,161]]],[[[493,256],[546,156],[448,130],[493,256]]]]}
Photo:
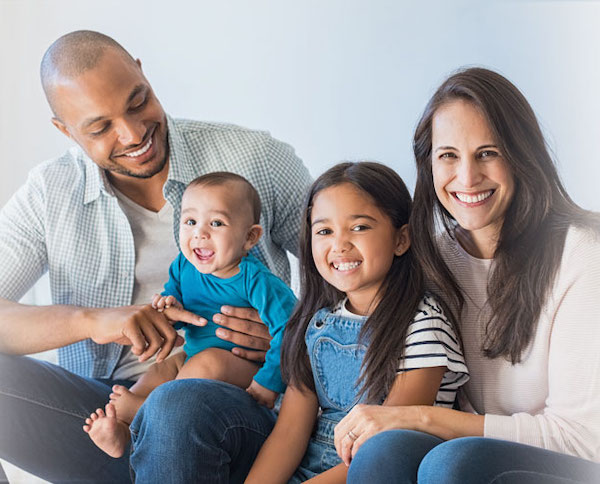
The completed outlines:
{"type": "Polygon", "coordinates": [[[165,383],[131,423],[132,477],[144,484],[241,483],[274,423],[271,410],[229,383],[165,383]]]}

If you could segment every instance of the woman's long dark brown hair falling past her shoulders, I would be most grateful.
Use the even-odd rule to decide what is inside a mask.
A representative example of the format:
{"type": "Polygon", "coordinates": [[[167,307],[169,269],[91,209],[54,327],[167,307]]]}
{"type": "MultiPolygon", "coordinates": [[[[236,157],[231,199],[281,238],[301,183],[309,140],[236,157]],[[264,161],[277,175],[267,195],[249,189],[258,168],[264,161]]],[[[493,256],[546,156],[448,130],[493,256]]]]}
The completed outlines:
{"type": "Polygon", "coordinates": [[[577,206],[563,187],[535,114],[521,92],[500,74],[469,68],[450,76],[435,92],[415,131],[417,163],[413,250],[425,275],[449,297],[456,320],[465,295],[436,247],[438,228],[454,237],[456,221],[439,202],[431,169],[431,124],[437,110],[466,100],[487,120],[512,173],[515,190],[504,215],[495,268],[488,282],[491,318],[484,354],[513,364],[531,341],[558,271],[570,225],[600,231],[597,214],[577,206]],[[441,227],[440,227],[441,225],[441,227]]]}

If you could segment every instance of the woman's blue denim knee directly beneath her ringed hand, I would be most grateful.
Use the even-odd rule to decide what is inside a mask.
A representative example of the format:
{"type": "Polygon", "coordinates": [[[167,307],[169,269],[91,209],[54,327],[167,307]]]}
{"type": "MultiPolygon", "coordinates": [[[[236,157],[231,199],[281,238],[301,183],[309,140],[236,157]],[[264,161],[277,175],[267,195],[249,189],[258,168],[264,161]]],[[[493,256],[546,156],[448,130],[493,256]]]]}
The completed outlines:
{"type": "Polygon", "coordinates": [[[412,430],[391,430],[367,440],[350,464],[348,482],[416,482],[423,457],[442,442],[412,430]]]}

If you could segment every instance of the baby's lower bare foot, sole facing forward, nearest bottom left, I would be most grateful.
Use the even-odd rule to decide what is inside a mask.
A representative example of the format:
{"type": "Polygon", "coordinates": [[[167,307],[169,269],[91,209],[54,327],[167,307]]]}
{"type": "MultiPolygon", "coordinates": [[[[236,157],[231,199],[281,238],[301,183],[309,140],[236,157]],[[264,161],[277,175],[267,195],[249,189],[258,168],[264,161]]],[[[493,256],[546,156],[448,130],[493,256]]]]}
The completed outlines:
{"type": "Polygon", "coordinates": [[[99,408],[86,418],[83,430],[101,450],[117,459],[125,453],[131,438],[129,427],[117,420],[115,407],[111,403],[107,403],[105,408],[106,413],[99,408]]]}

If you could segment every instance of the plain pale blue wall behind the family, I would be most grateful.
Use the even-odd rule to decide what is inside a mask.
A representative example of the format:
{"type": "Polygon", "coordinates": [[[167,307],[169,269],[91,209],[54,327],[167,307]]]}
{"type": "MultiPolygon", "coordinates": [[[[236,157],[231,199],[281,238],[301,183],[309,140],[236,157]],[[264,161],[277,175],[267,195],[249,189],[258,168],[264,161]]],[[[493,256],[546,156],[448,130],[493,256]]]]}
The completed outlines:
{"type": "Polygon", "coordinates": [[[414,185],[411,137],[428,97],[466,64],[526,94],[576,201],[600,210],[600,2],[0,2],[0,205],[68,146],[48,122],[37,66],[62,33],[91,28],[140,57],[176,116],[270,130],[313,174],[370,158],[414,185]]]}

